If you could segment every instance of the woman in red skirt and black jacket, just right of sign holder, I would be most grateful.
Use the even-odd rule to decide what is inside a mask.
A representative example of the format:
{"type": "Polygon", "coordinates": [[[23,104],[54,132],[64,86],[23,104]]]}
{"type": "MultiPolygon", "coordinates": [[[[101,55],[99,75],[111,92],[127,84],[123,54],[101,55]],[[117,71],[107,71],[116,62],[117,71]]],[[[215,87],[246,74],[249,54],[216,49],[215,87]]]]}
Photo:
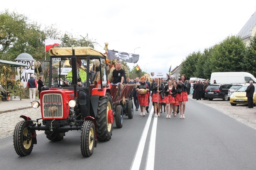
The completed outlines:
{"type": "Polygon", "coordinates": [[[175,103],[174,95],[175,95],[175,88],[172,86],[172,80],[168,80],[168,84],[165,85],[164,88],[164,100],[163,102],[166,103],[166,111],[167,115],[166,118],[171,118],[171,113],[172,113],[172,107],[173,103],[175,103]]]}

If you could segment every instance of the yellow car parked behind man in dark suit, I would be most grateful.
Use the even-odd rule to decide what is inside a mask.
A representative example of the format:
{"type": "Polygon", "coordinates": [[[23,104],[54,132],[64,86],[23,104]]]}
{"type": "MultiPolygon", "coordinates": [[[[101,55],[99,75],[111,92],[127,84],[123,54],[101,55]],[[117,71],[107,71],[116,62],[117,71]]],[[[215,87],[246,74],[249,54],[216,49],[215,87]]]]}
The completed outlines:
{"type": "MultiPolygon", "coordinates": [[[[230,96],[229,101],[232,106],[236,106],[237,104],[248,104],[245,90],[249,85],[249,83],[244,84],[230,96]]],[[[254,87],[253,106],[256,106],[256,84],[254,84],[254,87]]]]}

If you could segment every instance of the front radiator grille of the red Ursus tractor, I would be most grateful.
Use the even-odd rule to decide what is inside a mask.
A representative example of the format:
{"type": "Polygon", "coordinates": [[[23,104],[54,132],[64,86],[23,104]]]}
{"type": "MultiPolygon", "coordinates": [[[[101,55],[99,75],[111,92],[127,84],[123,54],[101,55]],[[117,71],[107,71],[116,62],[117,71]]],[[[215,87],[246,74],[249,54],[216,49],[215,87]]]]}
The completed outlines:
{"type": "Polygon", "coordinates": [[[63,117],[63,102],[61,94],[45,94],[43,96],[43,115],[44,118],[63,117]]]}

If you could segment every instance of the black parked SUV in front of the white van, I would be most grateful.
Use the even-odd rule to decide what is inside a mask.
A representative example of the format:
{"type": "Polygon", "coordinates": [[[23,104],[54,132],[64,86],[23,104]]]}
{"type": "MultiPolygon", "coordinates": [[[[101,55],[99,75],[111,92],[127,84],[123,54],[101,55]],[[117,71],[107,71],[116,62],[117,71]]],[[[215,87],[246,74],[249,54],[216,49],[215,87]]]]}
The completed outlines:
{"type": "Polygon", "coordinates": [[[205,90],[205,97],[209,100],[223,99],[228,101],[228,89],[232,87],[232,84],[211,84],[205,90]]]}

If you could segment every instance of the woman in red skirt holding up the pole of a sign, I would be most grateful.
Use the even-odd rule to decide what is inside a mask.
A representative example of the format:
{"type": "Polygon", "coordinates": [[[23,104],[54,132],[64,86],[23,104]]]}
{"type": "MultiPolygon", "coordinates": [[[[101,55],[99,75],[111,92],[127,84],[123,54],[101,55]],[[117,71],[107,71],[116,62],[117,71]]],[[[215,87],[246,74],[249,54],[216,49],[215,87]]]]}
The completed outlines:
{"type": "Polygon", "coordinates": [[[163,99],[161,99],[160,93],[164,92],[164,85],[161,83],[160,78],[155,79],[154,84],[152,84],[152,102],[154,102],[154,109],[155,109],[155,117],[160,116],[159,110],[161,108],[161,103],[163,99]],[[158,103],[158,105],[157,105],[158,103]]]}

